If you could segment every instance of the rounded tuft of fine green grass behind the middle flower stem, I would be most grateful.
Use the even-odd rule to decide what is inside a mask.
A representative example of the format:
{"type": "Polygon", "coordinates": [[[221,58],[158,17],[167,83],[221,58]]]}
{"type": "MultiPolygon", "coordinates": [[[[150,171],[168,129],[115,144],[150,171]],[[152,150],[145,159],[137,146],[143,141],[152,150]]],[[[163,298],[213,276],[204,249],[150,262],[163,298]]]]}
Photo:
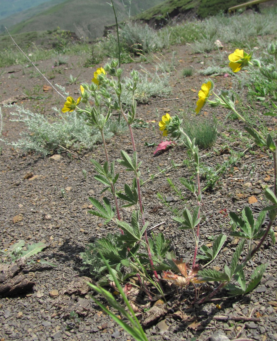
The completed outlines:
{"type": "Polygon", "coordinates": [[[184,122],[184,131],[190,139],[195,138],[195,144],[200,149],[211,148],[217,139],[217,123],[193,120],[192,122],[184,122]]]}

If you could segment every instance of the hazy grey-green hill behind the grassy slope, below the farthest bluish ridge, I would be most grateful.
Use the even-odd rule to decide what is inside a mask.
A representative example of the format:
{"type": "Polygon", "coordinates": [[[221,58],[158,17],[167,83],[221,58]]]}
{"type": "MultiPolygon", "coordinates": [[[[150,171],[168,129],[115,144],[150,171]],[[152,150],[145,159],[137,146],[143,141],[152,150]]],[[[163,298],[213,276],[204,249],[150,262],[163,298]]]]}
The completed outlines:
{"type": "MultiPolygon", "coordinates": [[[[3,0],[2,0],[3,1],[3,0]]],[[[15,1],[15,0],[14,0],[15,1]]],[[[27,0],[24,0],[27,1],[27,0]]],[[[128,19],[129,16],[161,3],[161,0],[113,0],[117,20],[128,19]]],[[[112,7],[105,0],[52,0],[47,2],[47,9],[41,10],[39,5],[31,10],[23,11],[16,16],[16,25],[7,25],[10,33],[21,33],[31,31],[54,30],[60,27],[62,30],[76,32],[79,36],[96,39],[103,35],[104,27],[115,24],[112,7]],[[57,3],[60,2],[60,3],[57,3]],[[32,14],[32,16],[30,16],[32,14]],[[22,20],[19,21],[21,16],[22,20]]],[[[44,4],[45,5],[45,4],[44,4]]],[[[11,24],[14,16],[9,17],[11,24]]],[[[0,20],[0,30],[8,18],[0,20]],[[5,20],[5,21],[4,21],[5,20]]]]}

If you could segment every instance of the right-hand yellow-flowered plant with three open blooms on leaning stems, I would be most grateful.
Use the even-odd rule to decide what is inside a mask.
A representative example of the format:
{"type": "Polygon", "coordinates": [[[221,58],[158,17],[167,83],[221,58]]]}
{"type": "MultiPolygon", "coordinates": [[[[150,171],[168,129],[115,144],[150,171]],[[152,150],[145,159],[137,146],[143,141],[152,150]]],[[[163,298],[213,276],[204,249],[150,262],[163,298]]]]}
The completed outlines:
{"type": "MultiPolygon", "coordinates": [[[[252,57],[253,51],[249,54],[243,50],[236,49],[233,54],[229,55],[229,66],[233,72],[240,71],[243,67],[252,65],[260,70],[261,76],[264,76],[270,81],[277,82],[277,43],[270,44],[267,48],[268,55],[272,56],[271,63],[261,66],[260,62],[252,57]]],[[[200,224],[200,204],[201,204],[201,190],[200,190],[200,178],[199,178],[199,153],[195,144],[195,139],[191,140],[189,136],[184,132],[181,127],[182,120],[176,115],[170,117],[168,114],[162,117],[162,121],[159,123],[160,130],[163,131],[163,135],[170,135],[170,137],[179,139],[181,143],[188,149],[191,155],[191,159],[194,165],[194,171],[196,174],[196,182],[188,180],[186,178],[180,178],[183,186],[189,190],[196,199],[196,205],[193,209],[185,208],[181,217],[175,217],[174,220],[180,224],[181,229],[191,229],[195,239],[195,251],[192,261],[192,268],[189,276],[184,269],[179,267],[180,272],[186,281],[182,283],[182,277],[173,275],[172,272],[164,272],[164,278],[172,280],[177,285],[187,285],[188,279],[192,279],[194,276],[199,281],[214,281],[220,282],[220,284],[214,288],[214,290],[208,295],[198,300],[197,303],[203,303],[205,300],[213,297],[219,290],[226,287],[229,294],[241,295],[251,291],[261,280],[263,272],[266,269],[265,264],[257,266],[252,273],[250,280],[246,283],[246,277],[244,268],[250,259],[259,251],[267,235],[270,235],[272,242],[275,243],[274,231],[272,224],[275,221],[277,213],[277,196],[276,196],[276,174],[277,174],[277,140],[274,140],[271,133],[266,129],[265,134],[258,131],[254,124],[242,116],[235,108],[234,95],[226,90],[221,90],[219,94],[213,91],[214,84],[211,80],[204,83],[201,90],[198,93],[199,100],[197,101],[196,113],[199,113],[201,108],[206,102],[212,107],[222,105],[223,107],[231,110],[231,112],[237,116],[245,125],[245,130],[254,139],[254,142],[261,148],[267,148],[272,153],[274,163],[274,187],[273,191],[270,188],[266,188],[264,191],[265,197],[269,201],[269,205],[264,207],[258,216],[254,218],[250,207],[245,206],[240,214],[230,212],[229,217],[231,220],[231,233],[232,236],[241,238],[237,248],[233,252],[232,260],[229,265],[225,265],[223,271],[217,271],[214,269],[204,269],[207,265],[214,261],[218,255],[221,247],[223,246],[226,236],[224,234],[218,235],[211,248],[203,245],[200,250],[203,254],[197,255],[198,250],[198,236],[199,236],[199,224],[200,224]],[[211,94],[214,95],[214,99],[209,99],[211,94]],[[266,215],[268,216],[268,223],[266,228],[263,228],[266,215]],[[248,240],[248,242],[246,242],[248,240]],[[258,243],[254,243],[254,240],[258,240],[258,243]],[[247,245],[247,246],[245,246],[247,245]],[[242,256],[242,261],[240,257],[242,256]],[[196,258],[207,262],[206,264],[199,266],[196,264],[196,258]],[[200,269],[200,271],[198,271],[200,269]]],[[[277,109],[275,102],[277,96],[275,91],[271,93],[270,100],[272,106],[277,109]]],[[[268,115],[268,113],[266,114],[268,115]]],[[[277,113],[270,113],[271,116],[276,117],[277,113]]],[[[177,264],[176,264],[177,265],[177,264]]],[[[183,268],[185,268],[183,266],[183,268]]],[[[191,282],[191,281],[190,281],[191,282]]],[[[182,285],[182,286],[183,286],[182,285]]],[[[196,291],[196,287],[195,287],[196,291]]]]}

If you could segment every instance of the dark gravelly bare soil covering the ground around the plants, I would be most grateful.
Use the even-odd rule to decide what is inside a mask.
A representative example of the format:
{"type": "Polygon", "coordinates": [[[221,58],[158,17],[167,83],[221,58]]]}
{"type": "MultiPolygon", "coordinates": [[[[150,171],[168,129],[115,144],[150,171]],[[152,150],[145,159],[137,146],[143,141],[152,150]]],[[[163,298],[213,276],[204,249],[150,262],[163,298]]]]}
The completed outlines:
{"type": "MultiPolygon", "coordinates": [[[[233,50],[228,46],[226,49],[226,64],[228,54],[233,50]]],[[[181,146],[176,146],[164,153],[153,156],[154,147],[146,147],[145,142],[160,143],[162,137],[158,131],[158,121],[165,113],[174,115],[180,110],[188,113],[188,119],[193,114],[191,108],[195,107],[197,92],[205,77],[197,74],[200,68],[208,63],[214,63],[218,58],[217,53],[211,53],[204,59],[201,55],[192,55],[189,46],[176,46],[175,65],[171,76],[173,93],[166,99],[153,99],[149,104],[140,105],[137,109],[137,117],[150,122],[148,128],[135,129],[135,142],[138,158],[143,161],[141,177],[145,181],[150,174],[159,172],[158,168],[165,168],[175,163],[182,163],[186,158],[186,152],[181,146]],[[205,64],[201,63],[205,60],[205,64]],[[184,67],[192,66],[194,74],[192,77],[182,78],[181,72],[184,67]],[[178,98],[178,99],[177,99],[178,98]],[[154,121],[154,122],[153,122],[154,121]]],[[[225,52],[222,52],[223,54],[225,52]]],[[[82,68],[82,56],[66,59],[66,64],[55,65],[55,60],[38,62],[38,67],[45,74],[53,74],[53,84],[58,83],[66,86],[67,91],[74,98],[79,93],[79,82],[76,85],[66,85],[69,75],[79,76],[79,81],[87,81],[93,77],[94,69],[82,68]],[[59,69],[58,69],[59,68],[59,69]],[[53,73],[53,70],[58,70],[53,73]],[[60,70],[60,71],[59,71],[60,70]]],[[[161,58],[161,56],[159,56],[161,58]]],[[[172,48],[163,56],[163,60],[170,63],[172,48]]],[[[144,64],[151,71],[155,65],[144,64]]],[[[125,72],[132,68],[139,69],[138,64],[124,65],[125,72]]],[[[51,107],[53,105],[62,107],[63,100],[54,91],[47,93],[41,91],[45,80],[33,74],[34,70],[21,65],[2,69],[0,100],[2,103],[22,103],[26,108],[35,110],[36,106],[42,107],[42,112],[55,118],[51,107]],[[31,77],[32,76],[32,77],[31,77]],[[33,91],[37,86],[44,100],[28,99],[26,89],[33,91]],[[44,104],[42,104],[44,103],[44,104]]],[[[247,71],[243,71],[247,72],[247,71]]],[[[216,88],[233,88],[237,86],[237,76],[218,75],[214,77],[216,88]]],[[[19,133],[25,129],[21,123],[10,122],[10,109],[2,107],[3,132],[2,137],[11,142],[17,140],[19,133]]],[[[231,142],[227,141],[228,135],[239,134],[243,131],[243,125],[237,120],[225,120],[226,112],[222,108],[212,109],[205,107],[197,119],[212,120],[216,117],[219,121],[221,134],[215,145],[215,149],[201,151],[201,160],[208,166],[216,166],[228,157],[228,147],[238,151],[247,149],[245,140],[238,135],[231,142]]],[[[268,122],[275,128],[274,122],[268,122]]],[[[33,291],[13,297],[2,297],[0,299],[0,321],[1,340],[128,340],[130,337],[122,328],[119,328],[109,316],[103,314],[94,305],[90,298],[92,292],[80,288],[76,284],[77,276],[89,276],[85,270],[81,270],[82,261],[80,252],[84,251],[87,243],[95,238],[101,237],[108,232],[113,232],[114,227],[104,227],[101,219],[87,214],[88,196],[100,197],[99,183],[94,180],[92,158],[103,161],[104,153],[101,146],[95,146],[92,151],[85,151],[82,159],[61,154],[59,161],[50,157],[40,158],[34,154],[22,154],[11,146],[1,145],[0,156],[1,167],[1,248],[8,248],[18,239],[24,239],[28,243],[43,241],[49,247],[38,254],[37,257],[45,258],[57,265],[56,268],[44,265],[27,265],[23,272],[35,282],[33,291]],[[84,180],[82,169],[87,171],[87,179],[84,180]],[[24,176],[32,172],[33,177],[24,179],[24,176]],[[66,195],[62,196],[61,189],[67,188],[66,195]],[[19,215],[22,220],[13,223],[13,217],[19,215]],[[71,282],[75,280],[72,284],[71,282]],[[68,286],[70,285],[70,286],[68,286]],[[58,291],[58,293],[56,292],[58,291]],[[69,307],[69,309],[67,309],[69,307]],[[73,325],[68,319],[70,310],[77,311],[81,316],[79,325],[73,325]]],[[[108,150],[112,159],[120,156],[120,150],[131,150],[131,140],[126,132],[120,136],[111,138],[108,142],[108,150]]],[[[129,180],[126,173],[117,165],[120,172],[120,181],[124,183],[129,180]]],[[[207,244],[207,236],[217,235],[225,232],[228,234],[229,224],[219,212],[226,208],[239,211],[244,205],[249,204],[249,197],[254,196],[256,203],[249,204],[258,212],[265,205],[263,187],[272,185],[272,160],[259,148],[248,148],[240,161],[234,165],[233,173],[229,170],[223,174],[214,190],[203,193],[203,205],[201,211],[203,219],[200,230],[200,245],[207,244]],[[250,178],[252,164],[255,165],[254,174],[250,178]],[[246,168],[245,168],[246,166],[246,168]]],[[[168,170],[153,181],[148,181],[142,187],[142,195],[145,205],[145,216],[150,226],[164,221],[154,233],[163,232],[170,238],[172,247],[177,257],[183,257],[191,263],[193,256],[193,236],[188,231],[180,231],[172,219],[172,214],[164,207],[157,198],[157,192],[164,196],[172,196],[171,204],[174,208],[183,208],[181,202],[170,191],[166,177],[172,178],[178,183],[180,176],[189,177],[190,171],[186,167],[168,170]]],[[[203,180],[202,185],[205,185],[203,180]]],[[[180,188],[181,185],[179,184],[180,188]]],[[[183,190],[185,194],[185,191],[183,190]]],[[[186,205],[193,204],[190,198],[186,205]]],[[[123,209],[124,215],[128,217],[130,211],[123,209]]],[[[275,231],[276,225],[274,226],[275,231]]],[[[228,236],[221,257],[212,266],[222,269],[224,264],[230,260],[237,240],[228,236]]],[[[268,263],[267,270],[258,287],[245,297],[223,298],[218,301],[209,302],[201,306],[192,305],[193,288],[178,291],[176,298],[180,299],[180,306],[176,311],[173,309],[161,313],[161,318],[154,325],[146,328],[149,339],[152,340],[208,340],[211,335],[222,332],[229,339],[238,337],[254,340],[276,340],[276,247],[267,238],[264,246],[249,264],[249,273],[261,263],[268,263]],[[275,303],[274,303],[275,302],[275,303]],[[219,303],[221,308],[217,308],[219,303]],[[243,322],[215,320],[215,316],[254,316],[259,321],[243,322]]],[[[248,273],[248,275],[249,275],[248,273]]],[[[140,316],[142,320],[147,314],[140,316]]],[[[212,339],[211,339],[212,340],[212,339]]],[[[222,338],[221,340],[224,340],[222,338]]]]}

